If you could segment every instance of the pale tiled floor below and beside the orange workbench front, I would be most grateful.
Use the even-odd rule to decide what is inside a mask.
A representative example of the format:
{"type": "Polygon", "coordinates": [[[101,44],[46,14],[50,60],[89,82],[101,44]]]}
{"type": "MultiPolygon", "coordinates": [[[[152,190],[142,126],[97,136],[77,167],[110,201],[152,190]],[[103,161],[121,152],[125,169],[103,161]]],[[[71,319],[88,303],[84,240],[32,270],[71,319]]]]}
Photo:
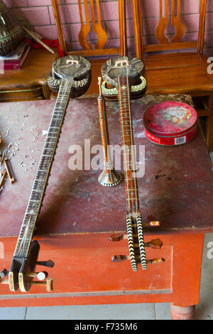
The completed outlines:
{"type": "MultiPolygon", "coordinates": [[[[213,161],[213,152],[211,153],[213,161]]],[[[170,320],[170,303],[0,308],[0,320],[170,320]]],[[[213,233],[204,237],[196,320],[213,320],[213,233]],[[211,251],[212,249],[212,251],[211,251]]]]}

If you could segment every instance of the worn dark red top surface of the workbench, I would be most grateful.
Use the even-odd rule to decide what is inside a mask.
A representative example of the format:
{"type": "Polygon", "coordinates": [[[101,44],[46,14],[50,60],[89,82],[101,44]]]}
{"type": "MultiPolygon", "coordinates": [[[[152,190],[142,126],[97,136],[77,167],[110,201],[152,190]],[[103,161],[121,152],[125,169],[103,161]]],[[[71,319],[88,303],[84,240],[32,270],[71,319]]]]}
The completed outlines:
{"type": "MultiPolygon", "coordinates": [[[[211,232],[213,174],[202,133],[182,146],[152,144],[144,136],[143,113],[156,101],[147,96],[131,102],[135,144],[145,146],[145,175],[138,178],[143,222],[160,220],[161,232],[211,232]]],[[[1,237],[18,235],[45,143],[43,131],[48,130],[54,105],[51,100],[0,104],[3,149],[10,146],[7,157],[13,153],[11,166],[16,177],[13,184],[7,179],[0,193],[1,237]]],[[[110,144],[121,144],[117,102],[107,102],[107,115],[110,144]]],[[[107,188],[97,181],[102,165],[99,171],[85,171],[84,166],[71,171],[68,166],[69,149],[80,145],[84,152],[84,139],[90,139],[91,147],[101,144],[97,99],[70,100],[35,232],[38,235],[126,230],[124,179],[107,188]]]]}

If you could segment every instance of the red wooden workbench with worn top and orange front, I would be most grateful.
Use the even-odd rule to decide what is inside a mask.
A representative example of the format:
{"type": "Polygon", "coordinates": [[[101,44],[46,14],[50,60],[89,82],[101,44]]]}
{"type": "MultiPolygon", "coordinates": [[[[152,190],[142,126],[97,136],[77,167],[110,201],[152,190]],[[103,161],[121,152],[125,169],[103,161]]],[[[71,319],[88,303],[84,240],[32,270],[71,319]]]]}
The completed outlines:
{"type": "MultiPolygon", "coordinates": [[[[111,262],[115,254],[129,254],[127,240],[109,242],[112,233],[126,232],[125,185],[105,188],[97,181],[100,171],[70,171],[71,145],[84,151],[84,139],[91,146],[101,144],[97,100],[72,100],[35,235],[39,260],[55,262],[48,269],[53,293],[41,286],[12,293],[1,285],[0,306],[170,302],[178,306],[172,307],[173,318],[192,318],[199,301],[204,232],[213,232],[212,165],[201,131],[194,141],[175,148],[144,137],[143,112],[158,100],[133,101],[132,113],[135,144],[146,146],[145,176],[138,179],[143,222],[161,222],[160,229],[146,230],[145,242],[153,237],[163,241],[162,249],[146,249],[146,257],[165,262],[149,264],[147,271],[138,266],[137,272],[129,261],[111,262]]],[[[7,180],[0,194],[1,268],[11,264],[45,141],[42,131],[48,130],[54,104],[0,104],[2,139],[18,148],[11,159],[17,181],[11,185],[7,180]]],[[[118,104],[107,104],[107,113],[111,144],[121,144],[118,104]]]]}

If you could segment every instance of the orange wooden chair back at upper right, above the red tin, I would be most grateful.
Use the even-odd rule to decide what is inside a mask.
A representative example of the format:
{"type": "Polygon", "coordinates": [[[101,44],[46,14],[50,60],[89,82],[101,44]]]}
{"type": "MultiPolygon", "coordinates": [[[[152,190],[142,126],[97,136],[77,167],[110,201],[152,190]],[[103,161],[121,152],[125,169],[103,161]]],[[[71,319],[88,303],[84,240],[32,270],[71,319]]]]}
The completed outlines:
{"type": "MultiPolygon", "coordinates": [[[[185,0],[187,1],[187,0],[185,0]]],[[[204,24],[207,0],[200,0],[200,23],[197,41],[181,41],[185,33],[185,26],[181,21],[180,5],[182,0],[159,0],[159,21],[155,27],[155,38],[158,44],[143,45],[143,31],[141,22],[141,0],[133,2],[133,23],[136,41],[136,57],[143,58],[144,53],[162,50],[178,50],[183,48],[197,48],[197,52],[203,53],[204,24]],[[164,1],[164,6],[163,6],[164,1]],[[164,14],[163,14],[164,7],[164,14]],[[170,13],[169,13],[170,8],[170,13]],[[165,36],[165,28],[171,23],[175,28],[175,35],[171,40],[165,36]]],[[[142,9],[143,11],[143,9],[142,9]]]]}

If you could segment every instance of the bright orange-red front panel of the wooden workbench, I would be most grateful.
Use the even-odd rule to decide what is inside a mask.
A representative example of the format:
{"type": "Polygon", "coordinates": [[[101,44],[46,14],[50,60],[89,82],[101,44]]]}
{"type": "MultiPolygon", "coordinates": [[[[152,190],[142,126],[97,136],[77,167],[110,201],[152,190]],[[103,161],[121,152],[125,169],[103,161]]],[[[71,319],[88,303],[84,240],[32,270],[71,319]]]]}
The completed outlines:
{"type": "MultiPolygon", "coordinates": [[[[114,263],[114,254],[126,254],[127,240],[109,242],[109,233],[35,237],[40,244],[40,261],[52,259],[53,293],[32,286],[29,293],[11,293],[1,285],[0,306],[56,306],[104,303],[165,303],[193,306],[199,301],[203,234],[157,235],[162,249],[146,249],[147,259],[165,262],[148,264],[133,272],[129,261],[114,263]]],[[[146,235],[145,241],[156,235],[146,235]]],[[[9,266],[16,237],[4,242],[4,265],[9,266]]],[[[1,264],[2,264],[1,260],[1,264]]],[[[38,271],[44,270],[37,266],[38,271]]]]}

